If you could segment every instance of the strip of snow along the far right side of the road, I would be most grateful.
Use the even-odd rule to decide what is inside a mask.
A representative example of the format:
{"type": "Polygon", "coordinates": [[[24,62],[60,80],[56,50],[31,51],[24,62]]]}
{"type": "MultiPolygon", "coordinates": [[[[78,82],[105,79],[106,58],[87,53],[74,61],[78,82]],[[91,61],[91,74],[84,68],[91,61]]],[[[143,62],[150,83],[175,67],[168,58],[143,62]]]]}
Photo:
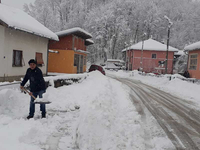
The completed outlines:
{"type": "Polygon", "coordinates": [[[200,107],[200,100],[199,100],[200,85],[197,83],[181,80],[181,78],[184,77],[179,74],[164,75],[163,77],[157,77],[154,74],[149,74],[148,76],[142,76],[138,73],[137,70],[131,72],[126,72],[122,70],[119,70],[118,72],[107,70],[106,74],[122,78],[139,80],[143,83],[154,86],[163,91],[179,96],[183,99],[188,99],[190,101],[193,101],[197,105],[199,105],[198,107],[200,107]],[[170,76],[172,80],[169,80],[170,76]]]}

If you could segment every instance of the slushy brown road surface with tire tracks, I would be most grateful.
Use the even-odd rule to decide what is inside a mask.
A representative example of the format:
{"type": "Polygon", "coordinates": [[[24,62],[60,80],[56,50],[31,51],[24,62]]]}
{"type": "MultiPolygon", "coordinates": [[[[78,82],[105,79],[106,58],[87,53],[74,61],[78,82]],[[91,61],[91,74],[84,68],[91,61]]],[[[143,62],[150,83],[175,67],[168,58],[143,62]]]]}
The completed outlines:
{"type": "MultiPolygon", "coordinates": [[[[179,102],[181,101],[179,98],[173,97],[172,95],[164,93],[155,88],[152,88],[153,89],[152,90],[150,86],[145,87],[146,86],[145,84],[139,82],[134,83],[134,81],[132,80],[130,81],[127,79],[117,79],[117,80],[128,85],[133,91],[135,91],[135,93],[143,102],[143,104],[156,118],[157,122],[163,128],[163,130],[165,131],[165,133],[172,141],[177,150],[182,150],[182,149],[199,150],[198,146],[196,145],[196,143],[198,143],[199,141],[195,141],[196,142],[195,143],[193,141],[194,138],[190,137],[192,133],[193,133],[192,135],[199,135],[200,133],[199,132],[200,124],[198,123],[199,118],[193,116],[193,118],[191,119],[190,117],[188,117],[188,115],[184,113],[184,111],[186,112],[191,111],[189,103],[187,103],[188,106],[186,106],[184,105],[184,103],[179,102]],[[150,92],[148,92],[148,90],[145,90],[145,88],[147,88],[150,92]],[[168,111],[171,111],[172,113],[181,116],[197,132],[190,130],[189,129],[190,126],[185,127],[187,130],[185,130],[185,128],[182,128],[183,125],[177,122],[164,109],[167,109],[168,111]]],[[[190,113],[189,115],[191,116],[192,114],[193,113],[190,113]]]]}

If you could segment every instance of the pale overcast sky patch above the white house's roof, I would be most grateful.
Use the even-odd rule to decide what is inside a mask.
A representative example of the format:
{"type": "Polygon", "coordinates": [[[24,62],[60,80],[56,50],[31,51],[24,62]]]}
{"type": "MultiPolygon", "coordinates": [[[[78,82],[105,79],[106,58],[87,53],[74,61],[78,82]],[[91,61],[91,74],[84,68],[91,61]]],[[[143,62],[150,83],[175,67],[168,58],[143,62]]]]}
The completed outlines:
{"type": "Polygon", "coordinates": [[[1,0],[2,4],[6,4],[15,8],[23,9],[25,3],[34,3],[35,0],[1,0]]]}

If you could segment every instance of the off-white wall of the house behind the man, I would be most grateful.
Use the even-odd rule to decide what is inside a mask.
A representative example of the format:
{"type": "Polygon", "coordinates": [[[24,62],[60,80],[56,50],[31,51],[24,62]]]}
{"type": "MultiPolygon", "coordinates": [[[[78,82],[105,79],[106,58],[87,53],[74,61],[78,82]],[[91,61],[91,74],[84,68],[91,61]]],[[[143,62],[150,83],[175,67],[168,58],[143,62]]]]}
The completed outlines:
{"type": "Polygon", "coordinates": [[[28,61],[35,59],[36,52],[43,53],[44,66],[40,67],[40,69],[43,74],[46,74],[47,46],[48,39],[46,38],[11,28],[5,28],[3,49],[5,59],[0,58],[1,62],[4,61],[4,70],[1,72],[0,77],[3,77],[4,74],[6,77],[23,76],[29,67],[28,61]],[[13,50],[23,51],[22,67],[12,66],[13,50]]]}

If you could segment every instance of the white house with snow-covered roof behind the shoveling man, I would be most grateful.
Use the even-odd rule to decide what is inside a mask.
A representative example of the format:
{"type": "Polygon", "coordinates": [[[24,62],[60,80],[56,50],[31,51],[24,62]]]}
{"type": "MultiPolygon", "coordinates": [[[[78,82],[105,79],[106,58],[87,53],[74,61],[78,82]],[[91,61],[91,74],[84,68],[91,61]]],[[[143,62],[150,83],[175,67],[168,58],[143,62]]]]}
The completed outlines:
{"type": "Polygon", "coordinates": [[[50,39],[58,36],[22,10],[0,3],[0,81],[18,80],[30,59],[46,74],[50,39]]]}

